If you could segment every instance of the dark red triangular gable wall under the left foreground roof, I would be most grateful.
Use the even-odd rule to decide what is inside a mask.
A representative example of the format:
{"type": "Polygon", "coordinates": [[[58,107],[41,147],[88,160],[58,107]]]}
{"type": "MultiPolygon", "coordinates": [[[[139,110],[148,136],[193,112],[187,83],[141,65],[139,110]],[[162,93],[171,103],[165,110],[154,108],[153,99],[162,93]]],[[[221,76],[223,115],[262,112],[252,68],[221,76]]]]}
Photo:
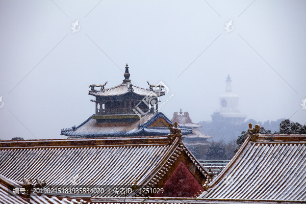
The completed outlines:
{"type": "Polygon", "coordinates": [[[164,193],[155,197],[193,197],[197,192],[204,191],[183,162],[177,166],[163,186],[164,193]]]}

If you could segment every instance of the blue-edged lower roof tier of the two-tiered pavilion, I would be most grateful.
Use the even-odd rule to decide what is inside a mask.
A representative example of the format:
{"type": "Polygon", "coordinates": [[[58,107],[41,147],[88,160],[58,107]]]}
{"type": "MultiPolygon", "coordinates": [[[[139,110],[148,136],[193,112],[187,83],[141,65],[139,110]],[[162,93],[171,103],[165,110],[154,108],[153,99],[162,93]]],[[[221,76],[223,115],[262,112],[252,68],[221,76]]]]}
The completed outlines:
{"type": "MultiPolygon", "coordinates": [[[[90,116],[82,124],[70,129],[61,130],[61,135],[84,137],[129,137],[168,135],[168,124],[172,123],[162,112],[155,115],[144,115],[141,119],[129,122],[97,123],[90,116]]],[[[182,134],[191,134],[192,130],[182,127],[182,134]]]]}

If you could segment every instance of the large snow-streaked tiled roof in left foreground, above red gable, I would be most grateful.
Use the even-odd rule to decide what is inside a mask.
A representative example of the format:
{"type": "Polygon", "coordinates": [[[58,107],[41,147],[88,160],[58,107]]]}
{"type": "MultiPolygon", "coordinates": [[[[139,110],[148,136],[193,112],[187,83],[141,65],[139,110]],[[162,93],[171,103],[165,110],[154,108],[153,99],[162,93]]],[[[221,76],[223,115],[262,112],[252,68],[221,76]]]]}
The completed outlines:
{"type": "Polygon", "coordinates": [[[169,143],[161,136],[0,141],[0,174],[19,184],[24,177],[72,185],[78,175],[78,185],[89,187],[129,186],[135,180],[150,187],[165,182],[183,156],[199,183],[210,178],[179,138],[169,143]]]}

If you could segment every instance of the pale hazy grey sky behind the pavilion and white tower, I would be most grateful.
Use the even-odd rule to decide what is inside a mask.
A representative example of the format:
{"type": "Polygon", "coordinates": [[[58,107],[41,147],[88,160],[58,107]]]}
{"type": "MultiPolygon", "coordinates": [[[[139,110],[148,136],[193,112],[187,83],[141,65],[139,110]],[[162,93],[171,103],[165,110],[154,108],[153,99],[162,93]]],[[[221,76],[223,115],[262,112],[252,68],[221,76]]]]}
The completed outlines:
{"type": "Polygon", "coordinates": [[[88,85],[126,63],[169,87],[170,119],[211,120],[230,74],[247,119],[306,122],[306,1],[0,1],[0,19],[0,139],[66,138],[95,112],[88,85]]]}

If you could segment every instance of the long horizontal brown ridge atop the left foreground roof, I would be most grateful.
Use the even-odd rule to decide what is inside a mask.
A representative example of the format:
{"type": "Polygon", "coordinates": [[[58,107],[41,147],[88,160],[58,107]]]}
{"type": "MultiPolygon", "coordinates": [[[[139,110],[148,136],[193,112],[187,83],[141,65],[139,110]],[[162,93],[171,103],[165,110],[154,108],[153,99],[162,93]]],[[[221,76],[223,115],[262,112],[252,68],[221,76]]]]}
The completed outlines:
{"type": "Polygon", "coordinates": [[[166,136],[122,137],[122,138],[73,138],[73,139],[40,139],[40,140],[5,140],[0,141],[0,148],[62,148],[85,146],[131,146],[131,145],[168,145],[166,136]]]}

